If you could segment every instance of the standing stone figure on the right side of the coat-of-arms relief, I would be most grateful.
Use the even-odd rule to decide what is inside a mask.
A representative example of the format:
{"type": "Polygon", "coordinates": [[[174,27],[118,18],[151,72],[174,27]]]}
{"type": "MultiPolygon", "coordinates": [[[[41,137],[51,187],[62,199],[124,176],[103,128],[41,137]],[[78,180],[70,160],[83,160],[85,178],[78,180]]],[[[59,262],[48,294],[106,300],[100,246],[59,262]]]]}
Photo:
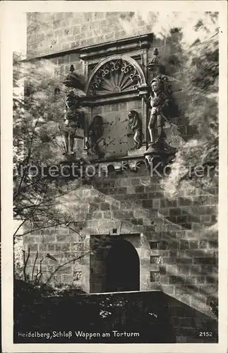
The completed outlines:
{"type": "MultiPolygon", "coordinates": [[[[164,123],[167,121],[165,109],[169,106],[171,90],[168,79],[165,76],[153,78],[151,83],[151,94],[146,102],[150,102],[150,120],[148,130],[150,133],[149,148],[162,148],[164,143],[164,123]]],[[[167,121],[169,122],[169,121],[167,121]]]]}

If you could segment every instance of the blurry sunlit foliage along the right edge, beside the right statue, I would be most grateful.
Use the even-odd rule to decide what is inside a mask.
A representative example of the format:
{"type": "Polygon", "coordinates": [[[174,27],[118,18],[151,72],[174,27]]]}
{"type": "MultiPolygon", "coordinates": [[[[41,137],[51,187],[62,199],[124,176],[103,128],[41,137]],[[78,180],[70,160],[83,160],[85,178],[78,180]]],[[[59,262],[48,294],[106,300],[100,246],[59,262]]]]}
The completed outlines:
{"type": "Polygon", "coordinates": [[[218,40],[217,35],[203,44],[193,45],[182,57],[182,78],[188,105],[184,110],[189,126],[196,127],[195,136],[183,143],[176,153],[166,189],[175,194],[183,181],[203,191],[213,191],[218,184],[218,40]],[[202,174],[194,173],[202,166],[202,174]],[[191,172],[189,174],[189,171],[191,172]]]}

